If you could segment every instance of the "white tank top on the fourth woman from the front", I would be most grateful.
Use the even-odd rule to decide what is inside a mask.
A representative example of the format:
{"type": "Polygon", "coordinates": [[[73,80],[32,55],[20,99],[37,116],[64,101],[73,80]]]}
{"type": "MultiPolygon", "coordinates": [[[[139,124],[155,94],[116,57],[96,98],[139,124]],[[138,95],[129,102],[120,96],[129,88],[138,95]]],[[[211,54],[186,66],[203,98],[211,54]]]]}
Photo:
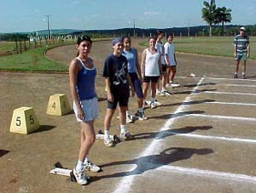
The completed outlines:
{"type": "Polygon", "coordinates": [[[148,50],[146,49],[146,61],[145,61],[145,76],[148,77],[154,77],[154,76],[160,76],[160,71],[159,71],[159,61],[160,54],[155,53],[151,54],[148,50]]]}

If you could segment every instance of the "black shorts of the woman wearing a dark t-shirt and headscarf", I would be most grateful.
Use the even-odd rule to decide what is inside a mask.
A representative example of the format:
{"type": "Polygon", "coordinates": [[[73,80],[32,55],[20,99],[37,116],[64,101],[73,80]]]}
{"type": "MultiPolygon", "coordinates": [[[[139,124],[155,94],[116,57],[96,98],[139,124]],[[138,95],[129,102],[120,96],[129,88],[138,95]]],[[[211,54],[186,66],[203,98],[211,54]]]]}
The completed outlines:
{"type": "Polygon", "coordinates": [[[118,104],[119,106],[128,106],[130,97],[130,88],[128,84],[121,88],[111,88],[111,93],[113,94],[113,102],[108,101],[108,109],[116,109],[118,104]]]}

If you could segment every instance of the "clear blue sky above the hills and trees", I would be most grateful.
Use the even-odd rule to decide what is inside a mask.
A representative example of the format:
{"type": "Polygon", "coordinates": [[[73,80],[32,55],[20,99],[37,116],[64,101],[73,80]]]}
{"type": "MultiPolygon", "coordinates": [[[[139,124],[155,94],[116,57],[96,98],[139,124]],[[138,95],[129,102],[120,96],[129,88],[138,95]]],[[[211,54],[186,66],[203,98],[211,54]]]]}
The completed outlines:
{"type": "MultiPolygon", "coordinates": [[[[206,0],[210,2],[210,0],[206,0]]],[[[216,0],[232,25],[256,25],[256,0],[216,0]]],[[[0,32],[203,26],[202,0],[0,0],[0,32]]]]}

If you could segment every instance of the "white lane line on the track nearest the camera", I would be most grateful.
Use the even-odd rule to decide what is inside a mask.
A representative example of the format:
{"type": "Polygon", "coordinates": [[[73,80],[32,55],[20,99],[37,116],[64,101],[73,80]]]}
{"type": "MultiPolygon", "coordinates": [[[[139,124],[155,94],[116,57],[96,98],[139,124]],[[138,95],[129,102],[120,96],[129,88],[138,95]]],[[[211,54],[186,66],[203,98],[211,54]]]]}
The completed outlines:
{"type": "MultiPolygon", "coordinates": [[[[152,163],[147,163],[147,164],[152,164],[152,163]]],[[[197,169],[197,168],[177,167],[177,166],[167,166],[167,165],[156,167],[156,169],[160,171],[169,172],[169,173],[188,174],[188,175],[214,178],[214,179],[230,179],[230,180],[236,180],[244,183],[256,184],[256,177],[246,175],[246,174],[224,173],[224,172],[216,172],[216,171],[203,170],[203,169],[197,169]]]]}

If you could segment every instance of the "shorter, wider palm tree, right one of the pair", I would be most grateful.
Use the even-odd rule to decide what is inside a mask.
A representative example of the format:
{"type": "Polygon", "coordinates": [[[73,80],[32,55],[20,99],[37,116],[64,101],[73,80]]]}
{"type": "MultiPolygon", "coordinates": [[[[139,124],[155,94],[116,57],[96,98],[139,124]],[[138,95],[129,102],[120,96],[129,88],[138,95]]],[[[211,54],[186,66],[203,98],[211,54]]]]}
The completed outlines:
{"type": "Polygon", "coordinates": [[[226,9],[226,7],[216,9],[216,21],[215,24],[221,23],[223,33],[224,33],[224,23],[230,23],[232,20],[231,9],[226,9]]]}

